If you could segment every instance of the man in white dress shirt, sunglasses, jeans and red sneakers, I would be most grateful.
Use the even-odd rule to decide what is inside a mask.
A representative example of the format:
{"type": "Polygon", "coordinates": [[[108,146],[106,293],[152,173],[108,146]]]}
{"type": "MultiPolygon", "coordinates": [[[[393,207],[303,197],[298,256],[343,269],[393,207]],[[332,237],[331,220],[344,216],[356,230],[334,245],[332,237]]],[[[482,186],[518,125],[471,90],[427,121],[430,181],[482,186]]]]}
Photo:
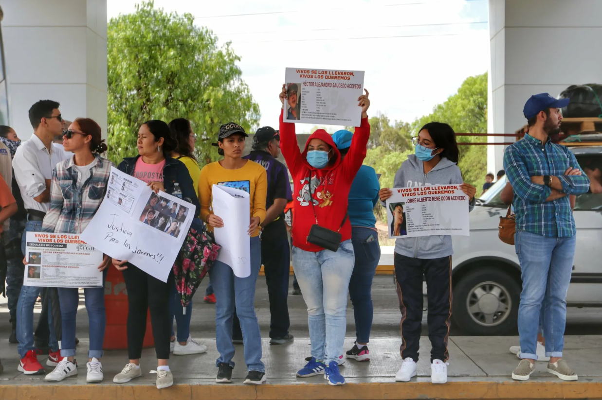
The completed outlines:
{"type": "MultiPolygon", "coordinates": [[[[40,100],[29,109],[29,122],[34,134],[18,148],[13,159],[14,176],[19,185],[23,205],[27,211],[27,222],[21,242],[25,254],[26,232],[40,232],[42,221],[48,211],[50,200],[50,182],[52,172],[57,164],[69,158],[60,147],[52,144],[52,140],[63,131],[59,103],[52,100],[40,100]]],[[[20,372],[26,375],[43,374],[44,368],[37,361],[33,335],[33,309],[40,288],[23,286],[17,303],[17,339],[21,357],[20,372]]],[[[58,342],[49,313],[50,355],[49,366],[56,366],[60,361],[58,342]]]]}

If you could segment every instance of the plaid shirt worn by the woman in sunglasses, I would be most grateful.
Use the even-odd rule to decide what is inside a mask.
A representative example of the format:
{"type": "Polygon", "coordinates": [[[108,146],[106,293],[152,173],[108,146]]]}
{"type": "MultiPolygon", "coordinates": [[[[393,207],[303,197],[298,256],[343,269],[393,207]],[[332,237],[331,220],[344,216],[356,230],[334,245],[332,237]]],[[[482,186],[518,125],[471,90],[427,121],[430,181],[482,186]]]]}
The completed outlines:
{"type": "Polygon", "coordinates": [[[52,174],[50,207],[44,217],[42,232],[84,232],[105,196],[113,163],[96,155],[90,177],[78,188],[78,170],[73,167],[73,158],[59,162],[52,174]]]}

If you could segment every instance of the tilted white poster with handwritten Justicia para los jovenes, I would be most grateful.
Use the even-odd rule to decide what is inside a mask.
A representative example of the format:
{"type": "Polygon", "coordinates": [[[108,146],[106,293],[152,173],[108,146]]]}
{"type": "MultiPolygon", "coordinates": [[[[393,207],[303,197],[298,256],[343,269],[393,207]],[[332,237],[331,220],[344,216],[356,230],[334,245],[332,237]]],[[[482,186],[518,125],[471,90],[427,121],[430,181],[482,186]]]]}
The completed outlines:
{"type": "Polygon", "coordinates": [[[114,259],[167,282],[196,207],[111,168],[107,193],[81,237],[114,259]]]}

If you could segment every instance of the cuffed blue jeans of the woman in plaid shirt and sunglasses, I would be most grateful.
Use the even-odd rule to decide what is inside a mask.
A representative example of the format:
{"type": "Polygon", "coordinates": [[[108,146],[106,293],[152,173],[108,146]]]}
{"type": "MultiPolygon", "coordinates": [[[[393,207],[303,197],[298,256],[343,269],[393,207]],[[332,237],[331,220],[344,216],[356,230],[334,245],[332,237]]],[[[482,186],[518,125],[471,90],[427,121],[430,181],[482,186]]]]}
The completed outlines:
{"type": "MultiPolygon", "coordinates": [[[[108,266],[111,268],[112,265],[108,266]]],[[[105,340],[105,279],[108,268],[102,271],[102,288],[84,288],[85,310],[88,312],[88,330],[90,334],[90,351],[88,358],[102,357],[102,342],[105,340]]],[[[79,306],[78,288],[58,288],[61,303],[61,319],[63,320],[63,339],[61,339],[61,357],[75,355],[75,316],[79,306]]]]}

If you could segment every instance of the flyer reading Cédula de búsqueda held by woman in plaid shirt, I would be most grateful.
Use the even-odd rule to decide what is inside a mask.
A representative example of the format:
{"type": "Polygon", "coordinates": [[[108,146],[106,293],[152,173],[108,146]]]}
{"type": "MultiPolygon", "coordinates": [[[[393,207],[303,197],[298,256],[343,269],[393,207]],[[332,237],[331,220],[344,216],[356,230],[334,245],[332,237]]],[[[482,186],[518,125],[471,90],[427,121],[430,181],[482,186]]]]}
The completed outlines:
{"type": "Polygon", "coordinates": [[[23,285],[102,288],[102,253],[70,233],[27,232],[23,285]]]}

